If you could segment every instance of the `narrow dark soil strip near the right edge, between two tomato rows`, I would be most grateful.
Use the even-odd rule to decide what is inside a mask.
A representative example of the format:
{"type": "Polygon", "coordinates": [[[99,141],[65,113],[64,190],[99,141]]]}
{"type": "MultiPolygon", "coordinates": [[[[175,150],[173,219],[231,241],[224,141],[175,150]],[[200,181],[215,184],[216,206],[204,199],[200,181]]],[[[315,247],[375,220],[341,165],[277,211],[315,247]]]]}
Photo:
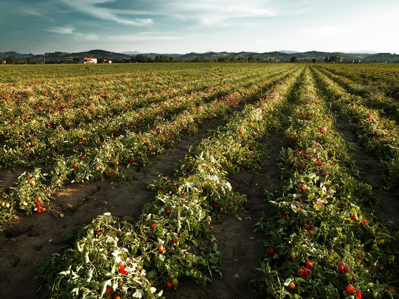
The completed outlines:
{"type": "MultiPolygon", "coordinates": [[[[342,119],[338,120],[343,123],[342,119]]],[[[380,210],[378,215],[382,218],[391,231],[399,230],[399,201],[393,190],[380,191],[381,177],[383,175],[383,169],[380,167],[379,159],[373,154],[366,152],[363,147],[359,144],[356,135],[348,129],[338,130],[344,136],[345,141],[350,143],[350,146],[354,148],[352,153],[355,155],[355,166],[359,171],[359,181],[365,182],[373,186],[374,194],[381,198],[380,210]]]]}

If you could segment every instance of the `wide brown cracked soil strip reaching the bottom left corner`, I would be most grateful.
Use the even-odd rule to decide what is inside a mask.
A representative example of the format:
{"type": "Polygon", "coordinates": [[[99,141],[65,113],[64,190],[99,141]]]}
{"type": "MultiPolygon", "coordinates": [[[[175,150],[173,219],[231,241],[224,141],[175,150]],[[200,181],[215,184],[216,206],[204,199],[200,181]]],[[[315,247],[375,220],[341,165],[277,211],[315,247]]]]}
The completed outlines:
{"type": "MultiPolygon", "coordinates": [[[[188,145],[198,145],[204,135],[217,128],[221,119],[205,123],[194,136],[184,136],[176,147],[166,150],[153,161],[151,167],[133,170],[133,182],[112,183],[107,180],[90,185],[71,184],[65,192],[56,194],[55,207],[40,215],[19,214],[20,219],[7,221],[6,230],[0,234],[0,297],[40,298],[35,294],[35,276],[49,254],[58,252],[64,245],[65,236],[76,225],[90,223],[97,215],[110,212],[117,217],[131,215],[138,218],[142,207],[154,193],[146,186],[158,174],[172,176],[174,164],[186,156],[188,145]],[[64,214],[63,218],[60,213],[64,214]]],[[[27,169],[16,172],[1,171],[0,190],[6,190],[27,169]]],[[[30,171],[30,170],[27,170],[30,171]]]]}

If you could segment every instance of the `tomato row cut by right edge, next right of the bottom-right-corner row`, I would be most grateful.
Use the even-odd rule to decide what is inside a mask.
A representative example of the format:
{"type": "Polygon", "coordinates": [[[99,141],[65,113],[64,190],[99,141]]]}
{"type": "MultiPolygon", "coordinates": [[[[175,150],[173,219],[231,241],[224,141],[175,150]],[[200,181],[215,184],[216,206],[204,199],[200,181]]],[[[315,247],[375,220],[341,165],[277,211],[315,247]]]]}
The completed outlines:
{"type": "Polygon", "coordinates": [[[399,125],[381,117],[378,110],[363,106],[362,98],[344,92],[338,84],[314,69],[320,90],[328,96],[333,111],[352,126],[361,145],[378,156],[385,171],[384,188],[399,185],[399,125]]]}

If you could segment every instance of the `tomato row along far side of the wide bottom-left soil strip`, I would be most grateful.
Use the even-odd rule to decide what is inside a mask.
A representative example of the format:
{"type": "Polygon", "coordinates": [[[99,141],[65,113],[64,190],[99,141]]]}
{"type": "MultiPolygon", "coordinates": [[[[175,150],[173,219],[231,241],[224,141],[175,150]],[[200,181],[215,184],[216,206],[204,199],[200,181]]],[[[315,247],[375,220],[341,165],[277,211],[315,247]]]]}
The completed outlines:
{"type": "MultiPolygon", "coordinates": [[[[102,176],[111,180],[124,180],[129,178],[126,171],[130,165],[148,166],[155,154],[162,154],[176,139],[183,135],[194,134],[199,130],[199,125],[214,117],[220,117],[245,102],[248,98],[257,96],[270,88],[276,82],[288,76],[291,71],[271,74],[271,77],[258,80],[247,88],[237,88],[219,99],[203,102],[199,106],[192,104],[189,109],[183,110],[168,121],[154,124],[148,131],[134,133],[127,132],[99,146],[85,145],[74,146],[75,154],[62,154],[53,157],[53,164],[47,174],[42,174],[36,168],[31,174],[24,173],[18,178],[18,184],[7,194],[1,195],[0,216],[9,219],[16,216],[16,211],[24,210],[28,214],[41,213],[43,203],[49,201],[51,196],[60,190],[65,182],[90,182],[102,176]],[[270,79],[270,80],[269,80],[270,79]],[[123,166],[122,166],[123,164],[123,166]],[[50,178],[45,184],[45,178],[50,178]],[[39,205],[39,206],[38,206],[39,205]]],[[[71,132],[73,134],[73,132],[71,132]]],[[[59,144],[65,143],[63,135],[59,136],[59,144]]],[[[68,143],[68,141],[67,141],[68,143]]],[[[69,143],[68,143],[69,144],[69,143]]],[[[10,163],[15,157],[10,156],[10,163]]]]}

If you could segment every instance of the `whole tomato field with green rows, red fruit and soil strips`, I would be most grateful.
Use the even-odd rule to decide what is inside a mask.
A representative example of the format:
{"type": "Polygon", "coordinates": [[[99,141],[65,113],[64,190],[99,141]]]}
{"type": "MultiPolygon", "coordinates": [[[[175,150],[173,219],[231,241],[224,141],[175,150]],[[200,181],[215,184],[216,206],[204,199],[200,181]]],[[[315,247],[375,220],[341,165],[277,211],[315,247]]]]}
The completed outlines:
{"type": "Polygon", "coordinates": [[[0,297],[399,298],[397,64],[0,82],[0,297]]]}

